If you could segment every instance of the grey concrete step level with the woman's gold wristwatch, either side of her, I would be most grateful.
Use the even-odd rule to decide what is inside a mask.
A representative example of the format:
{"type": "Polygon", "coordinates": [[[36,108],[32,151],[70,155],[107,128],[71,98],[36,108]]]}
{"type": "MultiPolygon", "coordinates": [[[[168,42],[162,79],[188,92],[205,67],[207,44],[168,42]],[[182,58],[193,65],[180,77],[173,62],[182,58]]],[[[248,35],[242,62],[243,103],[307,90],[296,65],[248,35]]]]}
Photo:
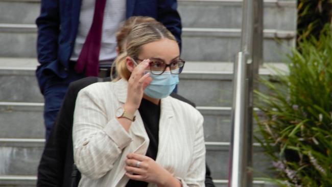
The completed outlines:
{"type": "MultiPolygon", "coordinates": [[[[197,107],[208,142],[230,141],[230,107],[197,107]]],[[[43,103],[0,102],[0,137],[44,138],[43,103]],[[17,130],[19,129],[19,130],[17,130]]]]}

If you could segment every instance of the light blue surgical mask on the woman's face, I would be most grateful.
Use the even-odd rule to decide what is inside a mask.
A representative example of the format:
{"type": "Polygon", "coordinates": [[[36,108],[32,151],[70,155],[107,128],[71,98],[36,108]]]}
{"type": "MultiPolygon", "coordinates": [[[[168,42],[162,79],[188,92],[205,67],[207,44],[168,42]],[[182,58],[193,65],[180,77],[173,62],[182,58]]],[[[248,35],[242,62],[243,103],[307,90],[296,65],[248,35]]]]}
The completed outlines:
{"type": "MultiPolygon", "coordinates": [[[[150,71],[146,71],[146,73],[148,72],[150,71]]],[[[152,81],[145,88],[144,93],[151,98],[168,97],[179,83],[179,75],[171,74],[170,71],[165,71],[161,75],[150,74],[150,77],[152,81]]]]}

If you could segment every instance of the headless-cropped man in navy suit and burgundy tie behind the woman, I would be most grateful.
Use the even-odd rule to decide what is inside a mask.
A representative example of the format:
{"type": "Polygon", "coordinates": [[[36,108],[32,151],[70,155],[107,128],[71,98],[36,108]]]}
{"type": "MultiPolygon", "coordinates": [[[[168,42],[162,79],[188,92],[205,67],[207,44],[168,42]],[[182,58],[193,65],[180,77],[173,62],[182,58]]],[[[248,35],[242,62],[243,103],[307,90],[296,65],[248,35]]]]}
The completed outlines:
{"type": "Polygon", "coordinates": [[[38,26],[36,76],[44,96],[48,138],[70,82],[100,76],[116,56],[115,32],[134,15],[160,21],[181,46],[176,0],[42,0],[38,26]],[[98,11],[94,11],[98,10],[98,11]]]}

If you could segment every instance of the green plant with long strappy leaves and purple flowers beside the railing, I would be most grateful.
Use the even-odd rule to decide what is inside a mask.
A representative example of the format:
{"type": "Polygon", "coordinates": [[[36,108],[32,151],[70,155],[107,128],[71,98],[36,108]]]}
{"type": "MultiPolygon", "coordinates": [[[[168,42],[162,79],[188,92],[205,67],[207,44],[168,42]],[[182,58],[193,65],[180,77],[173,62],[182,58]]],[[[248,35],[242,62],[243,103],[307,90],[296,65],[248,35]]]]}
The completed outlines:
{"type": "Polygon", "coordinates": [[[260,103],[255,137],[273,160],[279,186],[332,186],[332,34],[299,43],[288,56],[289,72],[274,82],[261,79],[269,93],[255,91],[260,103]]]}

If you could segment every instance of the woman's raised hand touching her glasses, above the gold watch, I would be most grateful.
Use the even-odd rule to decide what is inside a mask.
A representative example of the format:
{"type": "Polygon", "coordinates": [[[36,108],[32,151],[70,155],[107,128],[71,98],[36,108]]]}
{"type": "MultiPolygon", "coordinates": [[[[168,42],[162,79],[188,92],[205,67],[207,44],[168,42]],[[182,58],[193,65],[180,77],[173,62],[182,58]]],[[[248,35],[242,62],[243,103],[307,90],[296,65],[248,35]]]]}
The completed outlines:
{"type": "Polygon", "coordinates": [[[150,84],[152,78],[150,73],[144,74],[149,66],[150,60],[143,60],[131,73],[128,80],[127,101],[124,105],[126,111],[135,112],[143,98],[144,89],[150,84]]]}

